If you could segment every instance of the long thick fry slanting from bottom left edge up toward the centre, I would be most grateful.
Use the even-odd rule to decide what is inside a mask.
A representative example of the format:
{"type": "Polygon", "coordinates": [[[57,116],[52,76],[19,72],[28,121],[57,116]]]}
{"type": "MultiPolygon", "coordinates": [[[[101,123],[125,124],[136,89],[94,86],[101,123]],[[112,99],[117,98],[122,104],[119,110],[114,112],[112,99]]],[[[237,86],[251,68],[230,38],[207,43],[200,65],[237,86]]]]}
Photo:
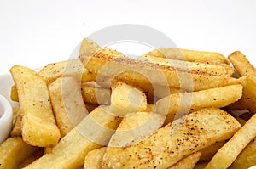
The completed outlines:
{"type": "Polygon", "coordinates": [[[109,115],[107,106],[99,106],[87,115],[79,125],[61,139],[52,152],[26,166],[26,169],[76,169],[84,165],[85,156],[93,149],[108,144],[118,127],[120,118],[109,115]]]}

